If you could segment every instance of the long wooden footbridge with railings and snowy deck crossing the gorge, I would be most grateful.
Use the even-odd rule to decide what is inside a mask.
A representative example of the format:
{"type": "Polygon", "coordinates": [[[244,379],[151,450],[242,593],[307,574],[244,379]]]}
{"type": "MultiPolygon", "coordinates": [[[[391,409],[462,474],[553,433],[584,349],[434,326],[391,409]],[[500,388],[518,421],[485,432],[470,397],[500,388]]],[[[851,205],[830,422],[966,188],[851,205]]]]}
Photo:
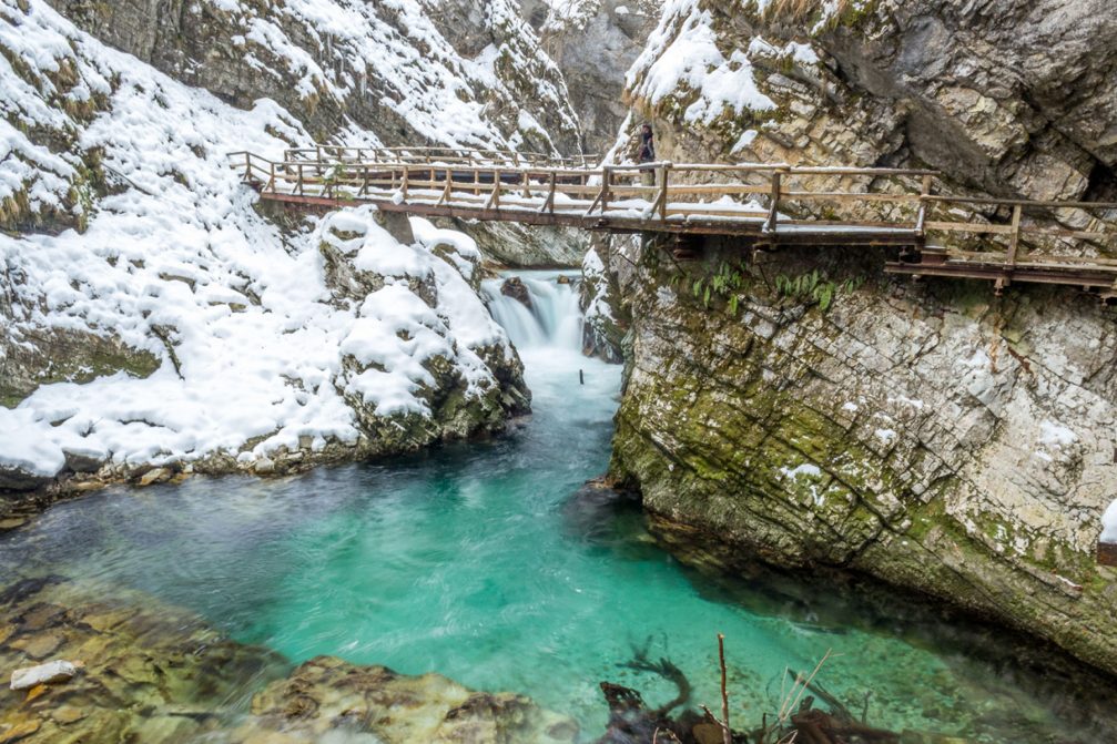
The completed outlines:
{"type": "Polygon", "coordinates": [[[765,248],[889,247],[898,249],[886,264],[892,274],[987,279],[997,292],[1013,282],[1069,285],[1117,298],[1117,258],[1108,257],[1117,228],[1098,217],[1117,203],[936,194],[935,171],[593,165],[588,156],[441,147],[323,145],[288,150],[279,161],[231,158],[262,199],[289,206],[372,203],[386,212],[680,241],[735,236],[765,248]]]}

